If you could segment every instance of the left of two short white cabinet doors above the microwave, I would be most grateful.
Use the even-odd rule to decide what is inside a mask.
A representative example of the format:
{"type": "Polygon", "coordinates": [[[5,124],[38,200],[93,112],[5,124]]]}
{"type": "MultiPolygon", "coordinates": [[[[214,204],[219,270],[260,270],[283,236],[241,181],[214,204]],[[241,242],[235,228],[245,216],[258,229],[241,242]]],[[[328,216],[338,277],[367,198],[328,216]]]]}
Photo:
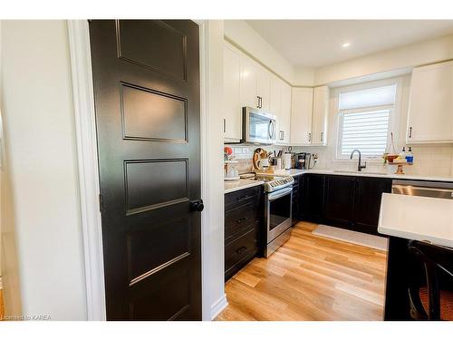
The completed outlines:
{"type": "Polygon", "coordinates": [[[258,64],[246,54],[241,57],[241,102],[242,106],[259,108],[257,84],[258,64]]]}

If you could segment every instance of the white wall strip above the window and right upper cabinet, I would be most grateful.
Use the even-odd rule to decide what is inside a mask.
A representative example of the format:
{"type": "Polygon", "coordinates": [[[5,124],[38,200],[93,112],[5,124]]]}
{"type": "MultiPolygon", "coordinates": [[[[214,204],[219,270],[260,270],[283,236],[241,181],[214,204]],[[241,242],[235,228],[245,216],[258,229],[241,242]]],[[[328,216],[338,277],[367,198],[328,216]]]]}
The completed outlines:
{"type": "Polygon", "coordinates": [[[323,85],[368,74],[389,72],[437,63],[453,58],[453,34],[430,39],[418,44],[401,46],[381,53],[373,53],[343,63],[317,68],[314,84],[323,85]]]}

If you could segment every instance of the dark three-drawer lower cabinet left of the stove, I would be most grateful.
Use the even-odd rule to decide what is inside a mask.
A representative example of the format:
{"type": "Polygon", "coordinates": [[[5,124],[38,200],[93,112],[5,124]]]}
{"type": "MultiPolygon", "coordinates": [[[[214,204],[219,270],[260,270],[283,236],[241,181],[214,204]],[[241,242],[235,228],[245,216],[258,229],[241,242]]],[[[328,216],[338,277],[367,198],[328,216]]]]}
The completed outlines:
{"type": "Polygon", "coordinates": [[[225,195],[225,281],[260,252],[263,199],[261,186],[225,195]]]}

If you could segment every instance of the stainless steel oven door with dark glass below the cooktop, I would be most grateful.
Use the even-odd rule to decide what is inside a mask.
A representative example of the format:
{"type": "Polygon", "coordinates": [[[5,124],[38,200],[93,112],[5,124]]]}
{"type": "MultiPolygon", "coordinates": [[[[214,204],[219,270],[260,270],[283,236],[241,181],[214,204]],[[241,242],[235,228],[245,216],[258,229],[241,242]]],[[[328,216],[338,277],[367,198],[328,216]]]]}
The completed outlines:
{"type": "Polygon", "coordinates": [[[265,199],[267,243],[272,242],[292,224],[293,187],[270,192],[265,199]]]}

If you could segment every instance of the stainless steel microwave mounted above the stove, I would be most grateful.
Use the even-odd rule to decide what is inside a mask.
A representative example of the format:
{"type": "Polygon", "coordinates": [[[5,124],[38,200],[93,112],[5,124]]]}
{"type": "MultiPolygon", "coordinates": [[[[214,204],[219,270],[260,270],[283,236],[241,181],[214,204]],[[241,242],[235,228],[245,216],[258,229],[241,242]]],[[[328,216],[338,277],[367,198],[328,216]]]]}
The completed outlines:
{"type": "Polygon", "coordinates": [[[275,115],[252,107],[244,107],[242,116],[242,142],[275,143],[275,115]]]}

